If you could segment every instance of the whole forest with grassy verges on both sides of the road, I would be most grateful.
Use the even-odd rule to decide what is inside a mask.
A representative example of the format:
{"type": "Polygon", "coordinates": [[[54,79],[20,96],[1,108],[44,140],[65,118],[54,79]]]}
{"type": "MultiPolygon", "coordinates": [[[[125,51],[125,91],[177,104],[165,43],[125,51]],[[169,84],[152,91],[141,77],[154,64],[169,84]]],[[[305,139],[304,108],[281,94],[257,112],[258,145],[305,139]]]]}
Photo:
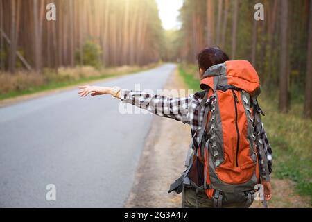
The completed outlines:
{"type": "Polygon", "coordinates": [[[199,89],[196,54],[219,46],[254,65],[275,175],[311,197],[312,0],[181,1],[167,30],[156,0],[0,0],[0,102],[164,62],[199,89]]]}

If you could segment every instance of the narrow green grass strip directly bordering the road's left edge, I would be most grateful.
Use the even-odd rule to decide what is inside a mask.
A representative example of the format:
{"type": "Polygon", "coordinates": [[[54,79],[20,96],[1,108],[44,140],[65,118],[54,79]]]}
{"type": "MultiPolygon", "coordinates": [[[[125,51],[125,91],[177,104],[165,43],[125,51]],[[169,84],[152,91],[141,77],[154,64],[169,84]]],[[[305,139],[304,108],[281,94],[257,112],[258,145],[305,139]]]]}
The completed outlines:
{"type": "Polygon", "coordinates": [[[116,71],[116,72],[112,72],[112,73],[103,73],[99,76],[80,77],[80,78],[78,78],[78,80],[73,80],[71,78],[57,78],[55,80],[52,78],[52,80],[49,80],[44,85],[28,87],[27,89],[15,90],[15,91],[10,91],[7,93],[0,94],[0,101],[3,99],[9,99],[9,98],[13,98],[16,96],[33,94],[35,92],[44,92],[44,91],[49,90],[49,89],[59,89],[62,87],[69,87],[69,86],[78,85],[81,83],[87,83],[87,82],[94,81],[94,80],[101,80],[101,79],[105,79],[105,78],[109,78],[109,77],[113,77],[113,76],[122,76],[125,74],[133,74],[137,71],[144,71],[146,69],[151,69],[153,67],[156,67],[156,65],[151,65],[151,66],[144,67],[144,68],[132,69],[131,71],[116,71]]]}

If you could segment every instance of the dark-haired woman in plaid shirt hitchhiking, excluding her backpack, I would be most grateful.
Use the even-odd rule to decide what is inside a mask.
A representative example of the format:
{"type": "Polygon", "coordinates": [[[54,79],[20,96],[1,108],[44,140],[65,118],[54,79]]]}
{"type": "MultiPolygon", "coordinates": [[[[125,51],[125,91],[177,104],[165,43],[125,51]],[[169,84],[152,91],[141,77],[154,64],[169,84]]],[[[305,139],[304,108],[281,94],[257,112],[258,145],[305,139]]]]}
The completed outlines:
{"type": "MultiPolygon", "coordinates": [[[[204,83],[205,82],[204,79],[207,77],[207,71],[210,71],[209,68],[213,69],[214,67],[216,67],[216,65],[225,64],[225,62],[229,61],[229,58],[221,49],[219,49],[216,46],[211,46],[209,48],[200,51],[200,53],[198,53],[197,60],[200,80],[202,80],[202,83],[204,83]]],[[[205,117],[205,110],[207,110],[207,107],[209,105],[208,103],[202,103],[202,100],[204,98],[204,95],[207,95],[205,94],[205,92],[208,92],[210,89],[206,90],[205,92],[191,94],[184,98],[168,98],[166,96],[148,94],[145,92],[135,92],[128,89],[120,89],[119,87],[98,87],[85,85],[80,86],[79,88],[82,89],[80,92],[78,92],[80,96],[87,96],[88,94],[91,94],[91,96],[110,94],[118,99],[121,99],[121,101],[125,103],[136,105],[137,107],[148,110],[153,114],[175,119],[177,121],[182,121],[183,123],[188,123],[191,126],[192,133],[191,147],[195,150],[198,147],[198,145],[202,143],[202,136],[198,135],[199,134],[198,132],[202,128],[201,127],[202,124],[204,123],[205,125],[204,119],[207,119],[207,117],[205,117]]],[[[232,105],[232,103],[230,105],[232,105]]],[[[268,163],[268,167],[265,168],[263,166],[263,160],[259,160],[260,163],[259,169],[262,169],[260,175],[262,178],[261,184],[263,185],[264,188],[265,199],[270,200],[272,196],[272,189],[270,182],[268,181],[268,174],[271,173],[272,171],[272,149],[270,148],[270,144],[268,144],[268,139],[266,137],[266,133],[264,132],[263,125],[261,125],[259,134],[261,136],[261,143],[264,144],[263,147],[266,156],[266,158],[264,159],[266,159],[266,162],[268,163]]],[[[258,155],[258,157],[262,158],[261,155],[258,155]]],[[[186,185],[184,179],[185,178],[183,178],[183,181],[180,182],[180,184],[182,184],[183,190],[182,207],[214,206],[215,202],[213,200],[214,199],[213,196],[211,196],[212,193],[209,194],[209,191],[212,191],[215,194],[216,191],[214,191],[214,189],[206,189],[206,191],[203,189],[198,189],[200,185],[194,185],[194,183],[193,184],[189,183],[189,185],[186,185]],[[207,192],[207,190],[209,191],[207,192]]],[[[176,186],[173,189],[171,189],[171,191],[172,190],[177,191],[177,189],[180,188],[176,186]]],[[[219,201],[220,205],[218,206],[249,207],[253,201],[253,199],[252,201],[249,201],[250,199],[247,199],[246,196],[246,199],[243,198],[241,200],[235,200],[234,202],[232,201],[232,203],[226,203],[226,199],[229,198],[231,198],[230,194],[227,194],[227,196],[225,196],[223,200],[221,198],[221,201],[219,201]],[[223,202],[224,204],[221,205],[223,202]]]]}

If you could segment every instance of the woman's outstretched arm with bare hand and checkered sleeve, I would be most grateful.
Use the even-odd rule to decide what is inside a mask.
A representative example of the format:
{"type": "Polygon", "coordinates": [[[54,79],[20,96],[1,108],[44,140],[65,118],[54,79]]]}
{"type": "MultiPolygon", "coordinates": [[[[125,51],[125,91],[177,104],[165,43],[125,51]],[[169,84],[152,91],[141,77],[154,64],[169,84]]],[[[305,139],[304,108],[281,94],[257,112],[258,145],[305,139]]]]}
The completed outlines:
{"type": "Polygon", "coordinates": [[[98,86],[80,86],[82,89],[78,94],[80,96],[97,96],[102,94],[110,94],[116,98],[121,99],[125,103],[130,103],[138,108],[148,110],[148,112],[157,114],[161,117],[168,117],[183,123],[189,123],[189,105],[191,96],[188,97],[166,97],[156,94],[148,94],[141,91],[132,91],[128,89],[121,89],[119,92],[114,91],[111,87],[98,86]]]}

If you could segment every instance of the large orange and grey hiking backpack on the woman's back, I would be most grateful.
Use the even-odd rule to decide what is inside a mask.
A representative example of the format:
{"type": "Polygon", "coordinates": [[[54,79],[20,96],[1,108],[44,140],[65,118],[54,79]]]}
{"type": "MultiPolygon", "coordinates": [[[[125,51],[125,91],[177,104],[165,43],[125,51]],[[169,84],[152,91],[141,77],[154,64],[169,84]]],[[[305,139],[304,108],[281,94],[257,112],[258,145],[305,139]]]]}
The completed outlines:
{"type": "Polygon", "coordinates": [[[187,170],[170,191],[177,191],[181,183],[191,184],[204,189],[214,199],[214,207],[242,200],[249,206],[259,183],[256,146],[260,139],[254,128],[261,123],[262,111],[257,103],[257,72],[248,61],[227,61],[207,69],[200,87],[205,89],[202,104],[209,104],[200,129],[201,143],[187,156],[187,170]]]}

